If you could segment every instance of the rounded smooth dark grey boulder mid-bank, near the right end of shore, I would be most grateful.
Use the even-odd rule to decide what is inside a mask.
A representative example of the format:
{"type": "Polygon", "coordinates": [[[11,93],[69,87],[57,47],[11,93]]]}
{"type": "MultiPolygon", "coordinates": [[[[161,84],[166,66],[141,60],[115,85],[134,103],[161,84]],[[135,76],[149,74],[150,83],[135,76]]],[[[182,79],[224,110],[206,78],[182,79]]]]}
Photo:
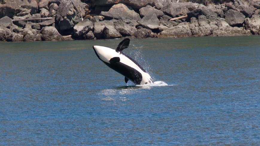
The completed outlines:
{"type": "Polygon", "coordinates": [[[245,20],[245,17],[246,16],[244,16],[244,14],[231,9],[225,13],[226,22],[231,26],[242,24],[245,20]]]}

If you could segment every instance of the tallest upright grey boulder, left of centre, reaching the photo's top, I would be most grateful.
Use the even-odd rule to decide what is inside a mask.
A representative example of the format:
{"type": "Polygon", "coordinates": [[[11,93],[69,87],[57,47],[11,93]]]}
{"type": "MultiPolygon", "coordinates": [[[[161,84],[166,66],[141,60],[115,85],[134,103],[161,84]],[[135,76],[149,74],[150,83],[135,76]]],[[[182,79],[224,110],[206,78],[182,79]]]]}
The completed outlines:
{"type": "Polygon", "coordinates": [[[80,0],[62,0],[55,18],[60,30],[70,29],[81,21],[85,15],[85,6],[80,0]]]}

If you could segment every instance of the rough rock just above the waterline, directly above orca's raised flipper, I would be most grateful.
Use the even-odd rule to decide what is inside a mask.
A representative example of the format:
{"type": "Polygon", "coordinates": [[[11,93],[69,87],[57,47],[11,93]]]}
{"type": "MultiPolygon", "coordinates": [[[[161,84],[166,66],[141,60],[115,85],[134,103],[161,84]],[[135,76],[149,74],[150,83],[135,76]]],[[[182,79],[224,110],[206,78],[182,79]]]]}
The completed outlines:
{"type": "Polygon", "coordinates": [[[134,24],[131,25],[131,23],[127,24],[121,19],[114,20],[114,27],[122,36],[133,36],[134,33],[137,31],[136,27],[133,25],[134,24]]]}

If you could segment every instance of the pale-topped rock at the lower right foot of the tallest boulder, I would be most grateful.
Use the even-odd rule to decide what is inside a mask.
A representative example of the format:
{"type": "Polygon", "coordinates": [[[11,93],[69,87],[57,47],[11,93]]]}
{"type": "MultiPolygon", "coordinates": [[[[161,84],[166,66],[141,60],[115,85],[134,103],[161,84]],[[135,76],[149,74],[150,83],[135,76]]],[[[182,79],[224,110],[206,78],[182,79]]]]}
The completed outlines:
{"type": "Polygon", "coordinates": [[[89,19],[80,21],[73,27],[73,35],[76,37],[82,36],[84,33],[88,33],[90,30],[93,30],[94,25],[89,19]]]}

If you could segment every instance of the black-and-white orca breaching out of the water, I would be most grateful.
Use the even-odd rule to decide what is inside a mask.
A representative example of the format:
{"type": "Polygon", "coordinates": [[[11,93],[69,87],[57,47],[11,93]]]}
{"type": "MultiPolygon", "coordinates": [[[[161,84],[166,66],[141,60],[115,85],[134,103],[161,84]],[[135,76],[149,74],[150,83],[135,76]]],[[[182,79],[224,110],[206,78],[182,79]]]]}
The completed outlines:
{"type": "Polygon", "coordinates": [[[153,80],[145,69],[134,59],[122,52],[129,46],[129,43],[130,39],[125,38],[118,44],[115,50],[96,45],[93,46],[93,49],[98,59],[125,77],[124,81],[126,83],[129,80],[137,85],[153,83],[153,80]]]}

